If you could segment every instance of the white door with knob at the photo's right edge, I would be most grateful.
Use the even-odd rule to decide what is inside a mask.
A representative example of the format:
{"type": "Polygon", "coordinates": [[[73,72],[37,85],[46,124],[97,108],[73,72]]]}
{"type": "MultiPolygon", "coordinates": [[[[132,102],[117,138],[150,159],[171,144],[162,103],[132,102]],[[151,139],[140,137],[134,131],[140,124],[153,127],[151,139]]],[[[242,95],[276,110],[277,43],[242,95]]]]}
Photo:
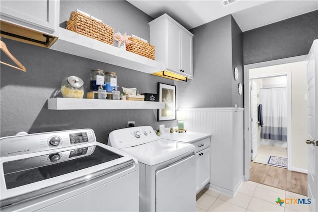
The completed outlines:
{"type": "Polygon", "coordinates": [[[308,197],[311,210],[318,211],[318,40],[308,54],[308,197]]]}

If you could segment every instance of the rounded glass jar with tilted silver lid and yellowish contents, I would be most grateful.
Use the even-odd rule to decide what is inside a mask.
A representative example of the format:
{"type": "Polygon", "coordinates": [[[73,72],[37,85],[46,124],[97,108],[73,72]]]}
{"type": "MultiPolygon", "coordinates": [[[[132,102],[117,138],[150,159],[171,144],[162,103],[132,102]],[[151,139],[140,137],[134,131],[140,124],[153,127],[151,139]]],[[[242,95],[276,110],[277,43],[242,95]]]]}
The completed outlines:
{"type": "Polygon", "coordinates": [[[64,78],[61,85],[61,93],[64,98],[82,99],[84,96],[84,82],[76,76],[64,78]]]}

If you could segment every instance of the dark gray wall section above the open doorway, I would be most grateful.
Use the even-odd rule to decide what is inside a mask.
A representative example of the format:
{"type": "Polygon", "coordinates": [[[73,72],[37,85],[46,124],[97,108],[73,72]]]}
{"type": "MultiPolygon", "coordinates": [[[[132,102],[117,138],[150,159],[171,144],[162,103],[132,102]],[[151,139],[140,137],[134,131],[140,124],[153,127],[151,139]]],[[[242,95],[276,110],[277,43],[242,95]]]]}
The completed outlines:
{"type": "Polygon", "coordinates": [[[243,32],[243,63],[308,54],[318,39],[318,10],[243,32]]]}

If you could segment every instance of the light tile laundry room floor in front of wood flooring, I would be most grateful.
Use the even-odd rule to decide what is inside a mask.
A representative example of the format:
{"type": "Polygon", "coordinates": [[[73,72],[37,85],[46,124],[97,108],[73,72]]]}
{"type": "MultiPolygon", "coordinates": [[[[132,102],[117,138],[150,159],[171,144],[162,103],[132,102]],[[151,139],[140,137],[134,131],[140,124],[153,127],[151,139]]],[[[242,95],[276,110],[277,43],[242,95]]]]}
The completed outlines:
{"type": "Polygon", "coordinates": [[[285,200],[308,197],[274,187],[245,181],[234,198],[204,189],[197,195],[197,212],[310,212],[304,204],[275,203],[277,198],[285,200]]]}

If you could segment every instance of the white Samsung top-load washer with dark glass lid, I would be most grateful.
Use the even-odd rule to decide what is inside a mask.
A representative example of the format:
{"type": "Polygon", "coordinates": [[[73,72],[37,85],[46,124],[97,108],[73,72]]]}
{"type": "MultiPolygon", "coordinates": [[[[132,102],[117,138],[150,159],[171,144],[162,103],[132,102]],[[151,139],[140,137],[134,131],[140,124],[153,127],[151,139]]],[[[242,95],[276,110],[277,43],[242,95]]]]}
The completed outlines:
{"type": "Polygon", "coordinates": [[[3,137],[0,151],[1,212],[139,211],[138,161],[91,129],[3,137]]]}

